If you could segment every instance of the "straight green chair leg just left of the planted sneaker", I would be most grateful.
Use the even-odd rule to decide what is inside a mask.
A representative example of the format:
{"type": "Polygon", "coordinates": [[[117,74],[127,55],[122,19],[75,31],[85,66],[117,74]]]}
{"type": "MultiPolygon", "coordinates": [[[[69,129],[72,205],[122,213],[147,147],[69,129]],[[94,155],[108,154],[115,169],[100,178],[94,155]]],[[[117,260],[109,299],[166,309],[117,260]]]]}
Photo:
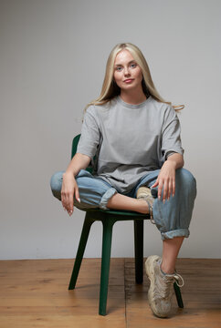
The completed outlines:
{"type": "Polygon", "coordinates": [[[135,279],[142,283],[143,273],[143,220],[134,220],[135,279]]]}

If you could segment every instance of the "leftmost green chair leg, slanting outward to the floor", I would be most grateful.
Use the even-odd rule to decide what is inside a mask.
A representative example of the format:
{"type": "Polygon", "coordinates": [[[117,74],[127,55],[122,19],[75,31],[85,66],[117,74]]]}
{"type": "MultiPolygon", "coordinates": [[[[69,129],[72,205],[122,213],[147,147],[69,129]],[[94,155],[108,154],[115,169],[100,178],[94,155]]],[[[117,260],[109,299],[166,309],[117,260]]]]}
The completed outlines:
{"type": "Polygon", "coordinates": [[[89,230],[91,227],[91,224],[94,222],[94,220],[90,220],[88,213],[85,216],[85,220],[84,220],[84,225],[81,231],[81,235],[80,235],[80,240],[79,240],[79,248],[78,248],[78,252],[76,255],[76,259],[75,259],[75,263],[74,263],[74,267],[73,267],[73,272],[71,274],[71,278],[69,281],[69,286],[68,286],[68,290],[72,290],[75,288],[78,276],[79,276],[79,268],[80,268],[80,264],[84,255],[84,251],[85,251],[85,247],[89,238],[89,230]]]}

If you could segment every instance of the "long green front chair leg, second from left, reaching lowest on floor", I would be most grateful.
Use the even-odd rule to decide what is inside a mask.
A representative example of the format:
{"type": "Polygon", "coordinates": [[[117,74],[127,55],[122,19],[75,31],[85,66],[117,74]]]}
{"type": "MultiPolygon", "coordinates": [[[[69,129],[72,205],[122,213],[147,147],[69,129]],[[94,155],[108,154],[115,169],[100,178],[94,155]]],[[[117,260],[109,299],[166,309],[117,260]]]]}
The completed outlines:
{"type": "Polygon", "coordinates": [[[110,251],[112,240],[112,227],[114,220],[106,217],[103,223],[103,239],[102,239],[102,256],[101,256],[101,272],[100,272],[100,306],[99,314],[106,315],[109,272],[110,272],[110,251]]]}

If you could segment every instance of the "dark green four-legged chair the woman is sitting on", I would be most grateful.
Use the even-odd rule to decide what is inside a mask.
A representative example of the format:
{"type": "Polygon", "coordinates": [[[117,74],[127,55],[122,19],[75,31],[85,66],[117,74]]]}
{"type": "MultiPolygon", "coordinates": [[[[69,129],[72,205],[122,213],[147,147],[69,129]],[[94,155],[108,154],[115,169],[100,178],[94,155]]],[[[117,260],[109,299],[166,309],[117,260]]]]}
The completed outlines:
{"type": "MultiPolygon", "coordinates": [[[[71,158],[76,153],[80,135],[76,136],[72,142],[71,158]]],[[[91,169],[88,168],[91,172],[91,169]]],[[[79,248],[74,262],[73,272],[70,278],[68,290],[73,290],[79,275],[80,264],[84,255],[85,247],[89,237],[89,230],[94,221],[100,220],[103,225],[102,237],[102,255],[100,272],[100,307],[99,314],[106,315],[109,272],[110,272],[110,251],[112,228],[115,222],[119,220],[133,220],[134,223],[134,245],[135,245],[135,280],[136,283],[142,283],[143,272],[143,220],[148,220],[146,214],[132,212],[127,210],[86,210],[86,216],[79,240],[79,248]]],[[[174,292],[177,303],[180,308],[184,307],[182,295],[179,287],[174,283],[174,292]]]]}

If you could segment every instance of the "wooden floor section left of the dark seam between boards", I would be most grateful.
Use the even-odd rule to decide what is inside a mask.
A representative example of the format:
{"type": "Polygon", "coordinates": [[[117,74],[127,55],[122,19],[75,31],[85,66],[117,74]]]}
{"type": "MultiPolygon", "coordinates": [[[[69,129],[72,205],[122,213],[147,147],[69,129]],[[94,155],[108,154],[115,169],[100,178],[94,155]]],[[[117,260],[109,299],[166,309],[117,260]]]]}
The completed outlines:
{"type": "Polygon", "coordinates": [[[107,317],[98,315],[100,259],[83,259],[77,286],[68,291],[73,263],[0,261],[0,327],[125,328],[124,259],[110,261],[107,317]]]}

